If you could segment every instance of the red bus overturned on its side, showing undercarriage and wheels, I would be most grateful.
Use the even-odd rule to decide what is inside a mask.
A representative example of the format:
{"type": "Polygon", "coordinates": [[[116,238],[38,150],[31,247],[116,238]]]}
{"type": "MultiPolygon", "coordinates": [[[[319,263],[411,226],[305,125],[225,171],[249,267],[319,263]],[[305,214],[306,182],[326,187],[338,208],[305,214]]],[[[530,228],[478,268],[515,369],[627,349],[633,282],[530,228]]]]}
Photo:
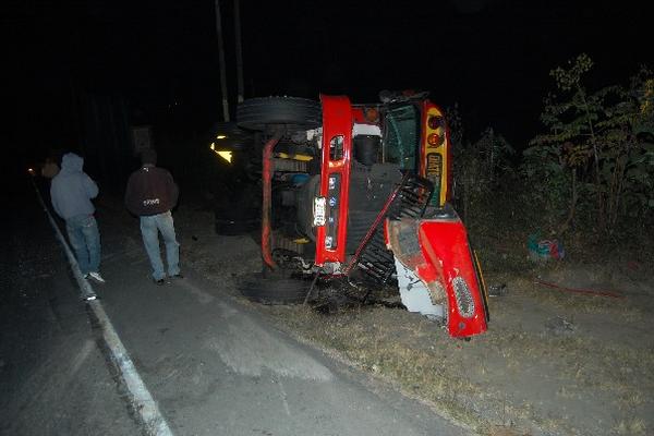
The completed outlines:
{"type": "MultiPolygon", "coordinates": [[[[479,262],[451,207],[451,148],[425,94],[245,100],[241,128],[263,132],[262,257],[269,270],[365,278],[452,337],[487,329],[479,262]]],[[[275,292],[271,288],[270,292],[275,292]]]]}

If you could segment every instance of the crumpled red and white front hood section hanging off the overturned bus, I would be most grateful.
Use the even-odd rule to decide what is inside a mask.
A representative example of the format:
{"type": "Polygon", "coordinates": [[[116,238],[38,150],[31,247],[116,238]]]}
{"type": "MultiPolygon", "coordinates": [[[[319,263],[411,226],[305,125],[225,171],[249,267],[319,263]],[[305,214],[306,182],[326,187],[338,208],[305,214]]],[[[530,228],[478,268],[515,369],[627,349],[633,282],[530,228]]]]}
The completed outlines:
{"type": "Polygon", "coordinates": [[[409,311],[427,316],[443,313],[452,337],[486,331],[488,311],[481,270],[456,215],[387,220],[385,237],[396,262],[403,266],[398,268],[398,284],[409,311]],[[404,269],[422,283],[401,278],[411,276],[404,269]]]}

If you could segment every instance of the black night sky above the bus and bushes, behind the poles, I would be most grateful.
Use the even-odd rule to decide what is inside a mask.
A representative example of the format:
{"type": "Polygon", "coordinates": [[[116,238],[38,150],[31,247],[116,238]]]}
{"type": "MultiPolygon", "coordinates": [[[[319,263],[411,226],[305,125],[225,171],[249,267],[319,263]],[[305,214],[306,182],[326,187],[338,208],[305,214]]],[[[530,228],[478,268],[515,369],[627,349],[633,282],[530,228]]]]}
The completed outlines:
{"type": "MultiPolygon", "coordinates": [[[[233,3],[220,4],[233,106],[233,3]]],[[[221,117],[213,0],[2,9],[2,142],[11,149],[36,155],[74,143],[73,96],[82,93],[124,97],[134,122],[168,112],[181,132],[221,117]]],[[[588,52],[593,83],[626,81],[653,65],[652,20],[631,1],[241,0],[245,94],[363,102],[384,88],[428,89],[443,107],[459,104],[471,136],[493,125],[521,148],[538,133],[549,70],[588,52]]]]}

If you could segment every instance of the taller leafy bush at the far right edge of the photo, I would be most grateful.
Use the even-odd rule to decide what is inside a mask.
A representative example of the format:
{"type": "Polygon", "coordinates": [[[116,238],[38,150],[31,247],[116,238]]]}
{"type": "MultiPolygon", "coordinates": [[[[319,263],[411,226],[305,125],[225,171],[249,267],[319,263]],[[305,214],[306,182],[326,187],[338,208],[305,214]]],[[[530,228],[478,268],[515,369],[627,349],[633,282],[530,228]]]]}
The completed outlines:
{"type": "Polygon", "coordinates": [[[546,133],[523,152],[521,173],[557,233],[590,229],[597,237],[643,232],[654,213],[652,73],[626,86],[584,86],[586,55],[550,71],[556,94],[545,98],[546,133]]]}

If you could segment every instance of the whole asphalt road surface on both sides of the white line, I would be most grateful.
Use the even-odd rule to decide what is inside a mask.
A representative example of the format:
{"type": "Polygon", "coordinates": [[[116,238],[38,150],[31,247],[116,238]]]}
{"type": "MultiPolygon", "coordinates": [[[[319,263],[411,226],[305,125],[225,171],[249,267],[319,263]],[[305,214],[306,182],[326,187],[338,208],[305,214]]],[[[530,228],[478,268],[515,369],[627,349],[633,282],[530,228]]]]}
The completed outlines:
{"type": "MultiPolygon", "coordinates": [[[[0,433],[145,433],[34,191],[14,194],[2,218],[0,433]]],[[[174,435],[468,434],[193,270],[156,286],[137,221],[116,215],[98,209],[107,283],[93,287],[174,435]]]]}

